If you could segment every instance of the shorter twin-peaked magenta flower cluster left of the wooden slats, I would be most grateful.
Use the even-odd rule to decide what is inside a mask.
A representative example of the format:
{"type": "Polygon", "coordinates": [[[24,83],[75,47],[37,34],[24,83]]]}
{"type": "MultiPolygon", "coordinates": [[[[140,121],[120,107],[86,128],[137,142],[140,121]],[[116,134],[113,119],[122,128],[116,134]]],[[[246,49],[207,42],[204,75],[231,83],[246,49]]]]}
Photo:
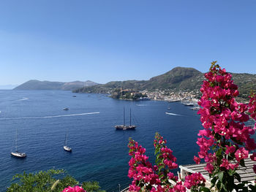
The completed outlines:
{"type": "Polygon", "coordinates": [[[148,156],[145,155],[145,148],[138,145],[138,142],[129,140],[129,155],[132,158],[129,161],[128,177],[132,178],[132,184],[129,185],[129,191],[168,191],[176,192],[187,191],[187,186],[203,186],[206,180],[200,173],[192,174],[186,178],[185,184],[182,181],[178,182],[178,177],[170,172],[171,169],[178,168],[176,157],[173,151],[170,150],[159,134],[156,134],[154,139],[156,165],[148,161],[148,156]]]}

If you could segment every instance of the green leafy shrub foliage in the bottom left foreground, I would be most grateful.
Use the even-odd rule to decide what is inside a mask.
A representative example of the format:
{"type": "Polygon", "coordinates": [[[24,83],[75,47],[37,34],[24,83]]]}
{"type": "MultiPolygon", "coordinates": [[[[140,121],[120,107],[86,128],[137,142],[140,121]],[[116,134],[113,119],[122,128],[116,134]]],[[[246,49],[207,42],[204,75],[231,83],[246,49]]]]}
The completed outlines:
{"type": "MultiPolygon", "coordinates": [[[[70,175],[66,175],[64,170],[50,169],[46,172],[35,174],[16,174],[13,183],[7,188],[7,192],[60,192],[68,186],[78,185],[78,181],[70,175]]],[[[83,182],[83,188],[89,192],[101,191],[97,182],[83,182]]]]}

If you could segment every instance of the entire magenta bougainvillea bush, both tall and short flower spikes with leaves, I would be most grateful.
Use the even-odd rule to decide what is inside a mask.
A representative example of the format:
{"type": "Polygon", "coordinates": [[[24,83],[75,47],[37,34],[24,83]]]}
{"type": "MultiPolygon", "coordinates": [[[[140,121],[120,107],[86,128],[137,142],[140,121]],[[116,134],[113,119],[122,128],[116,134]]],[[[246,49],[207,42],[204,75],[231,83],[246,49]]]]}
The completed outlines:
{"type": "MultiPolygon", "coordinates": [[[[238,166],[245,166],[244,159],[256,149],[252,139],[255,125],[245,124],[249,118],[256,120],[256,96],[251,94],[248,104],[238,103],[238,86],[233,83],[232,75],[216,61],[205,77],[200,88],[202,97],[198,101],[203,130],[198,133],[200,151],[194,161],[196,164],[200,164],[201,159],[206,162],[211,188],[206,188],[206,180],[200,173],[190,174],[184,181],[178,180],[170,172],[178,167],[176,157],[167,148],[166,141],[156,134],[156,165],[148,161],[146,150],[138,142],[129,140],[132,158],[128,177],[133,179],[129,191],[256,191],[255,183],[241,182],[237,173],[238,166]]],[[[250,158],[256,161],[256,153],[250,158]]],[[[256,165],[253,169],[256,173],[256,165]]]]}

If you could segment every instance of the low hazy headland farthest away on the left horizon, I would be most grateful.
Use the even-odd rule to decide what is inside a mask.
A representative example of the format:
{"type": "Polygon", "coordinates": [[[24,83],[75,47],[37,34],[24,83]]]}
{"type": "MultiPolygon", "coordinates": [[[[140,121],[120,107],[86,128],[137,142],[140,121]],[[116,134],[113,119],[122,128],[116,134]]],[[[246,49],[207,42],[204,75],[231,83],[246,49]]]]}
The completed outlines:
{"type": "Polygon", "coordinates": [[[29,80],[24,82],[15,90],[75,90],[78,88],[83,88],[86,86],[98,85],[96,82],[92,81],[74,81],[74,82],[51,82],[51,81],[39,81],[39,80],[29,80]]]}

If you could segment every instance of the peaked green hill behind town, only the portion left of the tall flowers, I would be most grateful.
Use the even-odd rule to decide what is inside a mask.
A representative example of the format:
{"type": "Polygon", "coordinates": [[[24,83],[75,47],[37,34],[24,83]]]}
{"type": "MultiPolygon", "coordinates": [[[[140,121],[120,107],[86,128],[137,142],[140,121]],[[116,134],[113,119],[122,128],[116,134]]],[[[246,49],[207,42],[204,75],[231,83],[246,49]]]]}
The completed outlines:
{"type": "Polygon", "coordinates": [[[104,85],[94,85],[75,90],[77,93],[109,93],[115,88],[129,88],[138,91],[156,89],[191,89],[200,88],[200,83],[203,80],[203,73],[193,68],[176,67],[150,80],[127,80],[127,81],[112,81],[104,85]]]}

